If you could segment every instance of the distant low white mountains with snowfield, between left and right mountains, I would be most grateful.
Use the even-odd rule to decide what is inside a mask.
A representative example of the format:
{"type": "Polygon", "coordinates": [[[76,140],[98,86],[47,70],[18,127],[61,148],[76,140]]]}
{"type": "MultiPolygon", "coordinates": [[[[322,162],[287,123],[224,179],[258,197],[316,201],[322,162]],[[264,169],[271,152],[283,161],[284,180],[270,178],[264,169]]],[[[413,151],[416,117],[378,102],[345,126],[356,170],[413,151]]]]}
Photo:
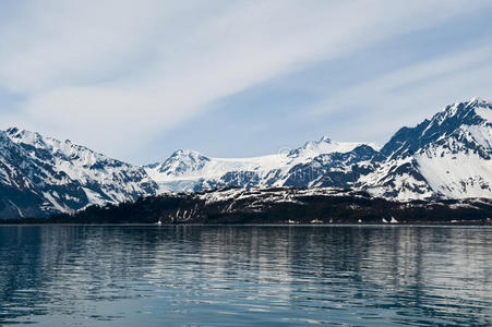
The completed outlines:
{"type": "Polygon", "coordinates": [[[323,175],[322,167],[350,169],[355,162],[371,159],[376,154],[374,147],[323,137],[297,149],[255,158],[211,158],[192,150],[178,150],[163,164],[146,166],[145,170],[161,192],[223,186],[312,186],[323,175]]]}

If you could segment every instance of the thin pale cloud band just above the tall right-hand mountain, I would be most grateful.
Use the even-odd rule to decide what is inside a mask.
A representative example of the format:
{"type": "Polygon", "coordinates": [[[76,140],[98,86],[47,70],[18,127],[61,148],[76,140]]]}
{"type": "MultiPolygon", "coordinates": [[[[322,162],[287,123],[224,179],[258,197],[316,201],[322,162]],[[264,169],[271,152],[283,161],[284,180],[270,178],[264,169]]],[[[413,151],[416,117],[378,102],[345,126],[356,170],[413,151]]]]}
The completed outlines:
{"type": "MultiPolygon", "coordinates": [[[[403,125],[418,123],[457,100],[492,99],[492,45],[425,60],[348,87],[308,108],[314,117],[356,111],[365,121],[355,124],[361,137],[389,136],[403,125]],[[374,128],[377,126],[377,128],[374,128]]],[[[350,126],[347,126],[350,129],[350,126]]]]}

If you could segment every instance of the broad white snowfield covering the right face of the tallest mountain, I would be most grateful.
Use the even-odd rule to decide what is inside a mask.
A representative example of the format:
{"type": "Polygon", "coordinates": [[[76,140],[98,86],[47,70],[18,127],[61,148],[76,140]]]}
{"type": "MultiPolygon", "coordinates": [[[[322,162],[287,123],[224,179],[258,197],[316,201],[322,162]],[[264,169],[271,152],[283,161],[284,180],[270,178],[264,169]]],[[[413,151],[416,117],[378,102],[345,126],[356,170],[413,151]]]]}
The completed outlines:
{"type": "Polygon", "coordinates": [[[492,197],[492,105],[480,99],[456,104],[434,124],[459,116],[460,125],[416,153],[420,172],[440,195],[492,197]]]}

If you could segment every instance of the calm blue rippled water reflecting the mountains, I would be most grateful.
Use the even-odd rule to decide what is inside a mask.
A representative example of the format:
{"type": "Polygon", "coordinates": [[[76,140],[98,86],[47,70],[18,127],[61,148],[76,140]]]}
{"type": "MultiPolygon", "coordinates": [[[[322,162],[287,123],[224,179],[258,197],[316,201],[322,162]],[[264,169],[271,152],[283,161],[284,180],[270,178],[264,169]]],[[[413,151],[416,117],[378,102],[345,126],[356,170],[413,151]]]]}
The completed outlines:
{"type": "Polygon", "coordinates": [[[0,325],[491,325],[492,229],[0,227],[0,325]]]}

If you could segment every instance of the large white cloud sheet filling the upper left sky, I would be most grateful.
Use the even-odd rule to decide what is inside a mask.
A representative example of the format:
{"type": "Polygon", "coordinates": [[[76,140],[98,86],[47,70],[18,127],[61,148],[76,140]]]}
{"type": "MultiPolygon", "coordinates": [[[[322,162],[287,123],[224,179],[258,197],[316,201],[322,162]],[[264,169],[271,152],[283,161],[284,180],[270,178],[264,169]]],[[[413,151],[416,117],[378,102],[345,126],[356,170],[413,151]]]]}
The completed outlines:
{"type": "Polygon", "coordinates": [[[29,1],[0,25],[0,88],[24,99],[2,122],[129,157],[217,99],[487,3],[29,1]]]}

